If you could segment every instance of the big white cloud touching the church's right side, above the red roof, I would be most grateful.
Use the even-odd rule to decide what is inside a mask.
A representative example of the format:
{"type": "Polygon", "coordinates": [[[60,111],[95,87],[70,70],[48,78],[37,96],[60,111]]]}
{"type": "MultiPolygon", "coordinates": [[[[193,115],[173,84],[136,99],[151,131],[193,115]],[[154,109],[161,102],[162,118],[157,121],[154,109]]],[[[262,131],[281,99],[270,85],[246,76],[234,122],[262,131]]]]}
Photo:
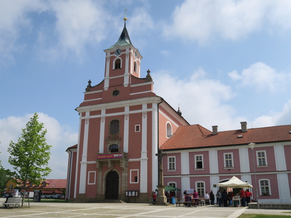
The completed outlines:
{"type": "Polygon", "coordinates": [[[207,76],[203,69],[198,69],[189,80],[180,80],[161,71],[153,75],[154,92],[174,109],[179,104],[182,116],[192,125],[200,124],[210,130],[211,125],[218,125],[220,130],[237,128],[245,118],[236,116],[236,110],[226,104],[235,94],[229,86],[207,76]]]}

